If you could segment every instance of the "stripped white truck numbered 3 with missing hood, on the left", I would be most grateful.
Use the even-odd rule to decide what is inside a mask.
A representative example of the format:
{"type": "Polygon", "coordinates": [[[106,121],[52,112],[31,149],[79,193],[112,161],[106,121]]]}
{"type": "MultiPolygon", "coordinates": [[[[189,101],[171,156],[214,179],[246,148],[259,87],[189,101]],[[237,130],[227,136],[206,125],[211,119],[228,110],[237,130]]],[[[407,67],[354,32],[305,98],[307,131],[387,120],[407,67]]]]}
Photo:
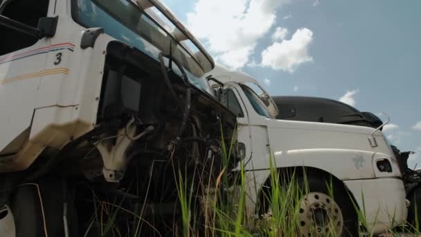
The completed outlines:
{"type": "Polygon", "coordinates": [[[171,232],[235,128],[211,56],[156,0],[0,4],[0,236],[171,232]]]}

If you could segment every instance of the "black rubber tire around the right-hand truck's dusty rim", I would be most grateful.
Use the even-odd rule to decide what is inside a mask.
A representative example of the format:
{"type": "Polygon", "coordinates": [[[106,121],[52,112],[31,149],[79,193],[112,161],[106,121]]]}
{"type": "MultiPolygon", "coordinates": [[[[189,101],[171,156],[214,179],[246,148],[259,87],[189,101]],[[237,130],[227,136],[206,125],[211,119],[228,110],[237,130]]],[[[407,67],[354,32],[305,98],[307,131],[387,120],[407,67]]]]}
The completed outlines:
{"type": "MultiPolygon", "coordinates": [[[[307,184],[310,193],[319,192],[329,195],[329,190],[326,184],[329,184],[330,179],[325,179],[323,177],[307,177],[307,184]]],[[[303,177],[297,177],[296,182],[301,190],[305,190],[305,179],[303,177]]],[[[282,184],[281,184],[282,185],[282,184]]],[[[343,216],[343,237],[354,237],[359,236],[359,225],[357,212],[354,209],[354,205],[350,200],[350,197],[343,186],[333,182],[333,198],[337,202],[339,208],[342,211],[343,216]]],[[[269,191],[270,192],[270,191],[269,191]]],[[[263,207],[265,208],[265,207],[263,207]]]]}

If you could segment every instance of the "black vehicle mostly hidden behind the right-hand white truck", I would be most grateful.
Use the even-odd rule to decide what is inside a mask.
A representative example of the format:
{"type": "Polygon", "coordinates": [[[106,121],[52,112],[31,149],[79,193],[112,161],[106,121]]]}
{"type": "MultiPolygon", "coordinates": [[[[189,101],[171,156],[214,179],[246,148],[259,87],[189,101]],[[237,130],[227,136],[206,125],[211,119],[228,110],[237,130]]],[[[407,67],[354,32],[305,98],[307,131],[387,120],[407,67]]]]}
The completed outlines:
{"type": "MultiPolygon", "coordinates": [[[[383,121],[375,114],[360,112],[355,107],[337,100],[307,96],[274,96],[273,98],[280,110],[276,119],[339,123],[371,128],[379,128],[383,124],[383,121]]],[[[401,152],[391,141],[388,141],[387,138],[385,139],[391,146],[393,155],[397,159],[405,185],[406,198],[411,202],[408,224],[415,226],[415,220],[418,220],[418,226],[420,226],[421,218],[420,216],[415,218],[415,215],[421,215],[421,209],[418,209],[420,208],[418,204],[421,203],[421,170],[414,170],[415,167],[408,166],[409,155],[414,152],[401,152]]]]}

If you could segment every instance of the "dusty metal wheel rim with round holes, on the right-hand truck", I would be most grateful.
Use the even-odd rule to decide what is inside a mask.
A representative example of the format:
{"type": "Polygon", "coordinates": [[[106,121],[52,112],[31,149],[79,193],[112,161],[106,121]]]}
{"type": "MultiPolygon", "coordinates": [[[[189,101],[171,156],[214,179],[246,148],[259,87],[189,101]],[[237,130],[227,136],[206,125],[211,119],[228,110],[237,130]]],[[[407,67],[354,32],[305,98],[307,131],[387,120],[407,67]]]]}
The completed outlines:
{"type": "Polygon", "coordinates": [[[305,195],[299,212],[301,236],[337,236],[343,231],[342,211],[325,193],[305,195]]]}

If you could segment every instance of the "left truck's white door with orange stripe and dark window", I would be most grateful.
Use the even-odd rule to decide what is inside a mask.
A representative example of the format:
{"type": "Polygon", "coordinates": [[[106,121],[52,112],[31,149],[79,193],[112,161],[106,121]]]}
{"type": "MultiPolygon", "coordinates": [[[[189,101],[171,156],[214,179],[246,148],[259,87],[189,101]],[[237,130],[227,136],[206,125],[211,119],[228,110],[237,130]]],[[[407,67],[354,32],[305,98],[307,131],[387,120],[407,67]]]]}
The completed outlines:
{"type": "MultiPolygon", "coordinates": [[[[48,0],[0,1],[0,15],[37,28],[48,15],[48,0]]],[[[50,50],[47,38],[0,26],[0,157],[16,152],[28,137],[40,80],[50,50]],[[15,139],[15,141],[13,141],[15,139]],[[13,142],[12,142],[13,141],[13,142]]]]}

